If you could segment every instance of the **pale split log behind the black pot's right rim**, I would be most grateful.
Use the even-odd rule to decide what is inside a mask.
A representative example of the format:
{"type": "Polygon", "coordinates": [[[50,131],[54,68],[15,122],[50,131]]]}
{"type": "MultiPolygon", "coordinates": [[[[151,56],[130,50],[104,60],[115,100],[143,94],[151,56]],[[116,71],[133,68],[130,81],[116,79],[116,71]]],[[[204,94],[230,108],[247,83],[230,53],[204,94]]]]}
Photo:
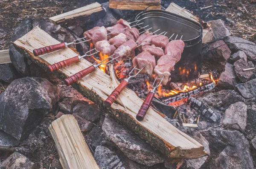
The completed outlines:
{"type": "MultiPolygon", "coordinates": [[[[174,14],[178,14],[182,17],[186,17],[198,23],[200,22],[200,19],[198,17],[194,16],[193,14],[190,13],[190,11],[186,10],[185,8],[181,8],[175,3],[170,3],[168,8],[166,8],[166,11],[172,12],[174,14]]],[[[206,28],[203,29],[203,43],[212,42],[214,39],[215,37],[212,31],[212,28],[208,25],[206,28]]]]}

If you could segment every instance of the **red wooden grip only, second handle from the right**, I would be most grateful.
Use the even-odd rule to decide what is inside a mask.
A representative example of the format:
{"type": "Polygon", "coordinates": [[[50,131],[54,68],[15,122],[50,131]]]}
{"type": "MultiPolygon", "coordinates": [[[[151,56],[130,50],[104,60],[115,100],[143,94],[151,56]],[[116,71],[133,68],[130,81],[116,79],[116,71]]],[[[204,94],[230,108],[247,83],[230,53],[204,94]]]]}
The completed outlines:
{"type": "Polygon", "coordinates": [[[128,82],[126,80],[122,80],[122,82],[116,87],[115,90],[108,96],[108,98],[104,101],[106,107],[111,107],[116,98],[122,92],[122,90],[127,86],[128,82]]]}

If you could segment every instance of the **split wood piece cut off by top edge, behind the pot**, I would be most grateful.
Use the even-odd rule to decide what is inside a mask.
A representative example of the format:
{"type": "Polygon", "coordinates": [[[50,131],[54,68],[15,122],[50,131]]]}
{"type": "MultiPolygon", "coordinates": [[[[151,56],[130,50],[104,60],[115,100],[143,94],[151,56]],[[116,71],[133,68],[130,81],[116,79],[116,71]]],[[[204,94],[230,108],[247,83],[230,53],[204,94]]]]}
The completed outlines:
{"type": "Polygon", "coordinates": [[[150,6],[148,9],[161,9],[160,3],[160,0],[110,0],[109,8],[144,10],[150,6]]]}

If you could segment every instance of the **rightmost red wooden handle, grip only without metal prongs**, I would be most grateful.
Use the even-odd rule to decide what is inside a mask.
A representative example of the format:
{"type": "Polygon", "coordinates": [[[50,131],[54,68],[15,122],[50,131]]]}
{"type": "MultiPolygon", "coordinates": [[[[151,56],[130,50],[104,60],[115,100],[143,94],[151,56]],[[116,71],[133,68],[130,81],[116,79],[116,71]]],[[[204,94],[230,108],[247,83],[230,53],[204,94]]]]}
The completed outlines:
{"type": "Polygon", "coordinates": [[[136,119],[138,121],[143,121],[143,119],[144,119],[144,117],[145,117],[145,115],[148,111],[148,108],[151,105],[151,102],[152,102],[153,98],[154,98],[154,93],[149,92],[146,99],[144,100],[143,104],[141,105],[138,114],[136,115],[136,119]]]}

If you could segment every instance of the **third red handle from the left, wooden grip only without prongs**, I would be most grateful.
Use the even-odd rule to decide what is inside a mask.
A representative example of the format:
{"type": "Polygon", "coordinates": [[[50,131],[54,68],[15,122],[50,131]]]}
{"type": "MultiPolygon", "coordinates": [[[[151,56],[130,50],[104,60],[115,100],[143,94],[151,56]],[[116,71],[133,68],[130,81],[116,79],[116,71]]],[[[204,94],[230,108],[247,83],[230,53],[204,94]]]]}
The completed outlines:
{"type": "Polygon", "coordinates": [[[79,79],[82,79],[84,76],[86,76],[87,74],[93,72],[95,70],[95,67],[93,65],[91,65],[90,67],[81,70],[80,72],[70,76],[69,78],[65,79],[65,84],[67,86],[71,85],[72,83],[78,81],[79,79]]]}

